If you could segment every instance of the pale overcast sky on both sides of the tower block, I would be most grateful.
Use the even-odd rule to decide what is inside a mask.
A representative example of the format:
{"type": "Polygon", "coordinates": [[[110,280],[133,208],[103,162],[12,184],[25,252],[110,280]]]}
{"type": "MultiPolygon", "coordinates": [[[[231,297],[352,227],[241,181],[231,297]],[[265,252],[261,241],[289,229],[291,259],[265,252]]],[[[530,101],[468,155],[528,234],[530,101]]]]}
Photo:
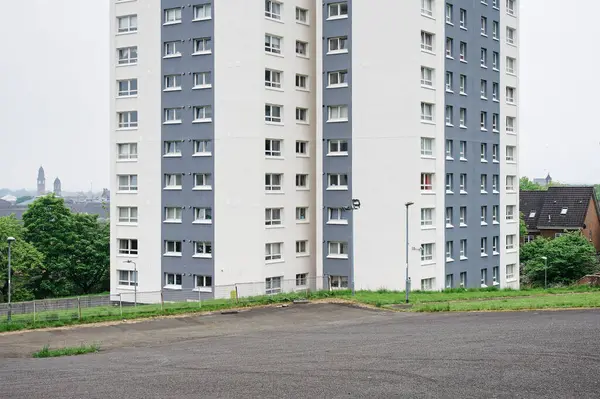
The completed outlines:
{"type": "MultiPolygon", "coordinates": [[[[584,40],[596,37],[600,1],[518,2],[520,173],[600,183],[600,134],[588,123],[600,80],[584,40]]],[[[109,3],[30,0],[26,26],[0,24],[0,188],[34,188],[40,165],[47,188],[56,176],[68,191],[108,186],[109,3]]]]}

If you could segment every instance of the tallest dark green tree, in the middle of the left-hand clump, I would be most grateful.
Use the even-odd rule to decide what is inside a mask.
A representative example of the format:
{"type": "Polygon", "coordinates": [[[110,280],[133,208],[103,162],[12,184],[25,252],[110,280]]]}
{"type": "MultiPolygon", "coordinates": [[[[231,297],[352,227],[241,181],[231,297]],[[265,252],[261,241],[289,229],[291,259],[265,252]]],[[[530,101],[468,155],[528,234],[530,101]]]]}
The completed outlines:
{"type": "Polygon", "coordinates": [[[44,256],[45,267],[37,276],[34,291],[38,298],[72,293],[68,279],[70,250],[76,242],[73,218],[62,198],[49,194],[36,199],[23,214],[24,238],[44,256]]]}

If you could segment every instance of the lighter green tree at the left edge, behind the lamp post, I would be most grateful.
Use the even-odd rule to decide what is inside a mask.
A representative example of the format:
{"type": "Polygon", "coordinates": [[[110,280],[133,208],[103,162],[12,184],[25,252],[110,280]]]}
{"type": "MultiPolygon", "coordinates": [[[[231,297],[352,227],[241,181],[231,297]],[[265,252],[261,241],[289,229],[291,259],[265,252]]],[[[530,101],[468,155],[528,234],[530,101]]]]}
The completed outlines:
{"type": "Polygon", "coordinates": [[[24,240],[23,224],[14,216],[0,217],[0,301],[5,302],[8,294],[8,237],[14,237],[11,244],[11,283],[12,299],[26,301],[33,299],[33,281],[43,272],[43,255],[33,245],[24,240]]]}

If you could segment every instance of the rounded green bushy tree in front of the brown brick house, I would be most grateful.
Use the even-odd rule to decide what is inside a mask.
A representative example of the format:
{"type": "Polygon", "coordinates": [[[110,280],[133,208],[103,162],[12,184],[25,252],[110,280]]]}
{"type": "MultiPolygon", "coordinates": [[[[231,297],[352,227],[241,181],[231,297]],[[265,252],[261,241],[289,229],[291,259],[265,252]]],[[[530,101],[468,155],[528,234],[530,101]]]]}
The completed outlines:
{"type": "Polygon", "coordinates": [[[521,247],[524,282],[544,285],[548,258],[548,284],[572,284],[598,270],[596,249],[580,232],[566,233],[553,240],[537,238],[521,247]]]}

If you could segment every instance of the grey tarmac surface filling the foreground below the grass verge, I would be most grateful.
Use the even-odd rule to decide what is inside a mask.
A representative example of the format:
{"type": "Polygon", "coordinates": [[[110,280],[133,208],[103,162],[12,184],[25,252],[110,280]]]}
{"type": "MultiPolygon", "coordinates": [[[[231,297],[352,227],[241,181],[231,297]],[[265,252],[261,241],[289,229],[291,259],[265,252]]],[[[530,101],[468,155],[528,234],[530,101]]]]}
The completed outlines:
{"type": "Polygon", "coordinates": [[[309,304],[0,335],[1,398],[598,398],[600,311],[309,304]],[[101,351],[32,359],[52,347],[101,351]]]}

